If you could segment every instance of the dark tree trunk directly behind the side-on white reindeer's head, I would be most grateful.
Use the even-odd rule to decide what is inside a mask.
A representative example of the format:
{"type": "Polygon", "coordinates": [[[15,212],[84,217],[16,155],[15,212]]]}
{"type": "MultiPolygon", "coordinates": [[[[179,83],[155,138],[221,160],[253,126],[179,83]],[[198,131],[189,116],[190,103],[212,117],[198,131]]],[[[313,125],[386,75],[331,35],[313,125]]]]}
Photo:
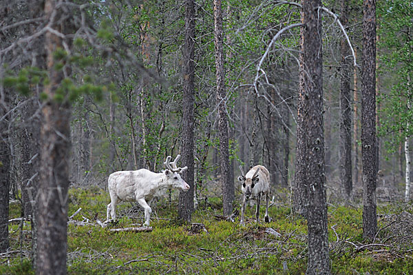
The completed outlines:
{"type": "Polygon", "coordinates": [[[188,170],[184,172],[184,180],[189,184],[189,192],[180,192],[178,218],[184,221],[191,221],[194,194],[194,116],[193,106],[195,104],[194,76],[195,63],[193,60],[195,50],[195,2],[193,0],[185,1],[185,42],[184,42],[184,95],[182,110],[182,165],[187,166],[188,170]]]}

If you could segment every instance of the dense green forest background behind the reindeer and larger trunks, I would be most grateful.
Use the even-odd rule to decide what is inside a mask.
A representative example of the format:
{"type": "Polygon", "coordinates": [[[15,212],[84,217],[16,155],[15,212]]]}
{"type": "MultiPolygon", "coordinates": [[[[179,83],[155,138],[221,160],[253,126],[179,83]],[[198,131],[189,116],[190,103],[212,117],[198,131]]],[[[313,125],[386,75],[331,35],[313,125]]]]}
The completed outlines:
{"type": "MultiPolygon", "coordinates": [[[[237,208],[242,196],[240,165],[246,170],[266,166],[272,201],[293,201],[300,139],[301,6],[295,1],[219,1],[224,54],[220,94],[215,2],[193,2],[189,40],[186,1],[0,4],[1,146],[2,155],[10,156],[0,165],[6,169],[2,192],[20,201],[22,216],[32,215],[30,187],[47,174],[41,163],[64,159],[70,188],[106,191],[112,172],[160,172],[167,156],[182,154],[190,146],[185,123],[193,125],[195,208],[221,199],[222,181],[234,183],[237,208]],[[53,8],[47,10],[47,5],[53,8]],[[190,45],[193,57],[188,54],[190,45]],[[184,92],[189,59],[192,95],[184,92]],[[56,74],[48,74],[51,70],[56,74]],[[55,82],[59,85],[51,85],[55,82]],[[186,96],[193,100],[192,121],[186,96]],[[53,109],[51,101],[59,106],[53,109]],[[41,125],[47,121],[44,110],[49,105],[47,117],[61,116],[70,125],[54,133],[56,139],[65,136],[67,143],[67,151],[58,152],[54,160],[39,156],[47,148],[40,136],[46,131],[41,125]],[[220,121],[222,114],[226,126],[220,121]],[[224,172],[222,127],[227,129],[229,153],[229,169],[224,172]]],[[[413,3],[378,0],[374,5],[377,199],[408,203],[413,3]]],[[[363,1],[328,0],[322,6],[326,10],[317,12],[322,14],[324,94],[317,112],[324,120],[326,202],[351,205],[363,201],[363,1]]],[[[169,192],[169,203],[178,196],[179,192],[169,192]]],[[[231,214],[232,207],[225,211],[231,214]]]]}

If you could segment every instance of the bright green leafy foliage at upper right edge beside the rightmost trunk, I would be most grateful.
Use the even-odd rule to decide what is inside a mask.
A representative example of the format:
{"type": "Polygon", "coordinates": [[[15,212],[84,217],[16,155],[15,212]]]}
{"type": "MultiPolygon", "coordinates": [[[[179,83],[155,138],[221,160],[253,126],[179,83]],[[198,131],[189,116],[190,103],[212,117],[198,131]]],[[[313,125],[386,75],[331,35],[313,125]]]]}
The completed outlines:
{"type": "Polygon", "coordinates": [[[381,71],[392,72],[392,78],[386,83],[390,92],[381,94],[381,136],[388,136],[388,149],[394,151],[406,136],[412,136],[413,121],[411,107],[413,99],[413,53],[409,30],[413,29],[413,6],[410,1],[378,1],[379,47],[381,71]]]}

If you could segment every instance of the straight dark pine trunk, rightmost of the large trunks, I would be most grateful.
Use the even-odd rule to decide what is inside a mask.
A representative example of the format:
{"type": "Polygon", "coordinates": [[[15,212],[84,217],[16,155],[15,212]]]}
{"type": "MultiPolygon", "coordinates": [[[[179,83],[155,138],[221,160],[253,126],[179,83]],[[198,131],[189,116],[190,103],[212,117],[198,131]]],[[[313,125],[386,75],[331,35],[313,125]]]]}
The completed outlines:
{"type": "Polygon", "coordinates": [[[361,154],[363,159],[363,236],[377,232],[376,200],[376,1],[363,1],[361,154]]]}

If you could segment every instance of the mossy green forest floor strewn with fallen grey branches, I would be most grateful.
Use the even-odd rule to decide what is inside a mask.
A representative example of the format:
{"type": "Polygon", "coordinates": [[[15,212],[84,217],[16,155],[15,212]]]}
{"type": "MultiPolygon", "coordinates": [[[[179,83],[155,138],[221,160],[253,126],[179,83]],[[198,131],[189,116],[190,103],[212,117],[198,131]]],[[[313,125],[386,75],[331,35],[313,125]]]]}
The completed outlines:
{"type": "MultiPolygon", "coordinates": [[[[153,205],[151,232],[111,232],[139,226],[140,207],[120,204],[118,223],[103,228],[96,220],[105,220],[109,194],[98,187],[72,188],[69,216],[81,210],[68,225],[67,273],[305,274],[306,220],[291,214],[287,197],[271,204],[270,223],[255,223],[248,206],[245,227],[238,218],[218,221],[220,198],[209,198],[193,214],[192,223],[204,229],[180,225],[176,200],[162,199],[153,205]]],[[[332,274],[413,274],[412,205],[379,203],[377,213],[377,237],[368,242],[363,240],[362,205],[328,204],[332,274]]],[[[18,217],[19,204],[11,203],[10,219],[18,217]]],[[[30,222],[12,222],[9,230],[11,247],[0,254],[0,274],[34,274],[30,222]]]]}

